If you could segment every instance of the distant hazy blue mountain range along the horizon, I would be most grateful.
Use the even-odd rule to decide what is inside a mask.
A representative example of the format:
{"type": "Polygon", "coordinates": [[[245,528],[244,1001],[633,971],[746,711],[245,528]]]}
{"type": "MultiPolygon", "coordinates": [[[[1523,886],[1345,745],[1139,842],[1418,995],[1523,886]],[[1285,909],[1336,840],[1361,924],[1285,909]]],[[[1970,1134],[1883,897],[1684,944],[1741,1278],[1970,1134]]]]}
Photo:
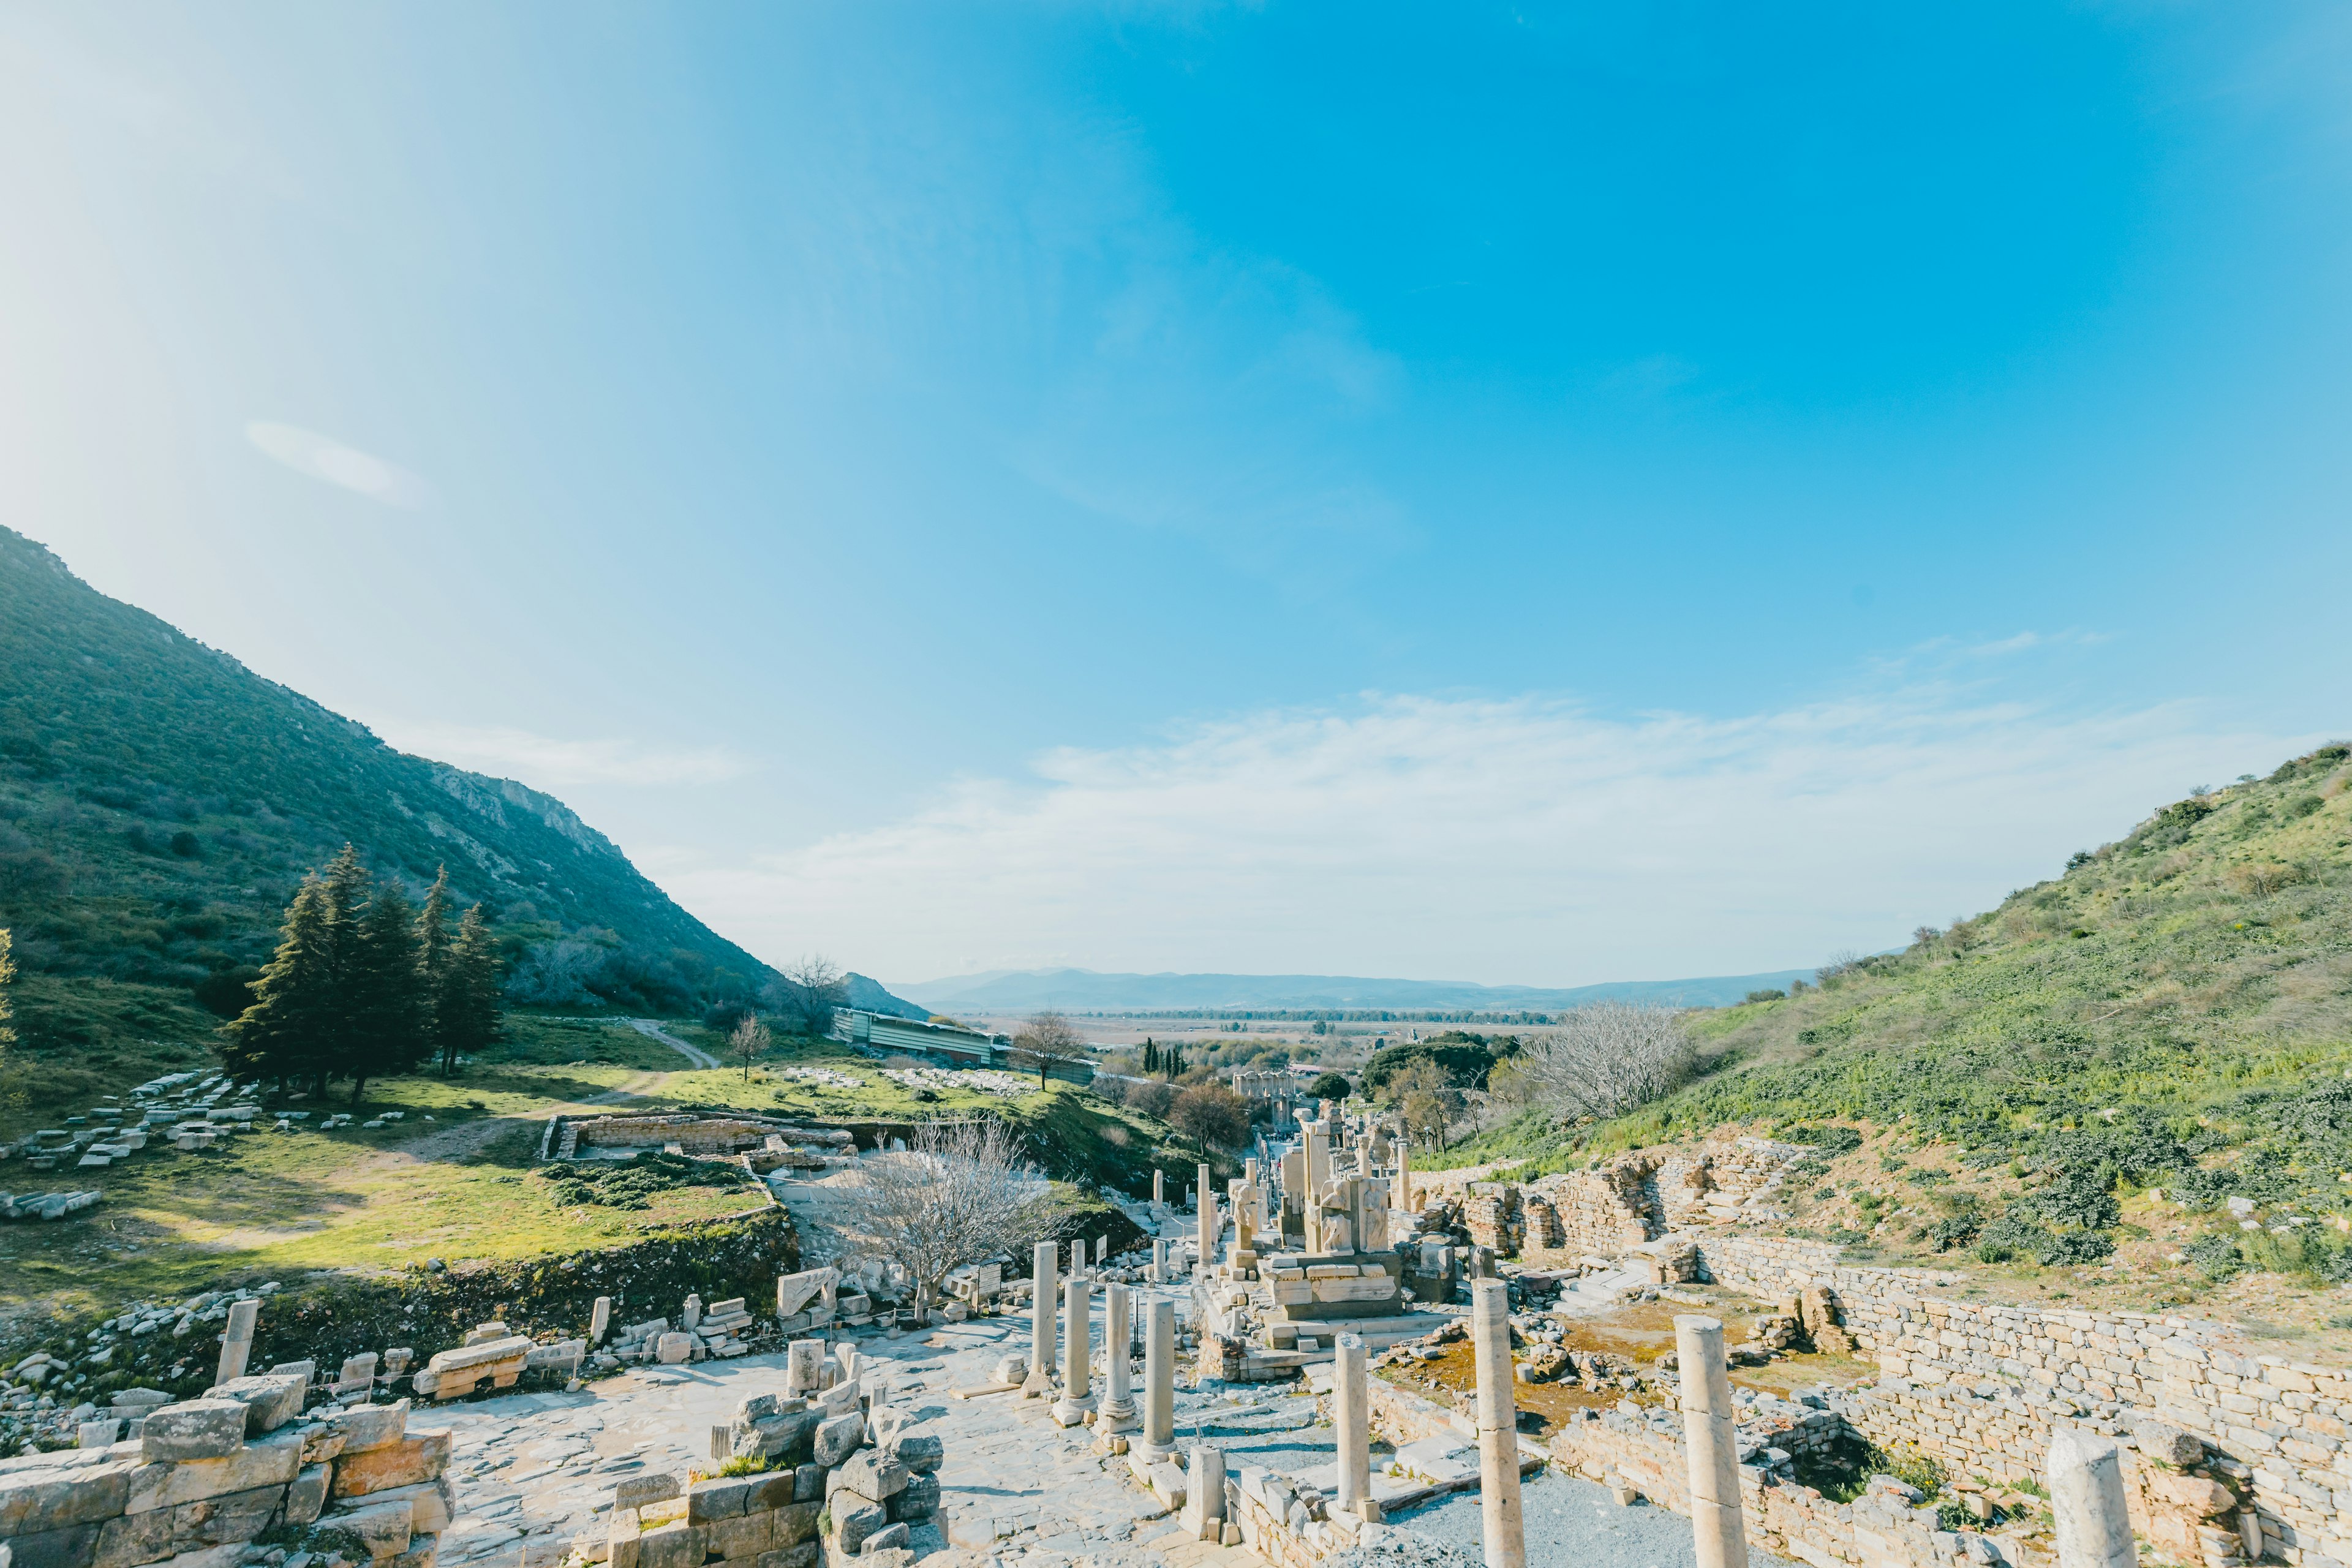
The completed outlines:
{"type": "Polygon", "coordinates": [[[1726,1006],[1752,990],[1811,980],[1811,969],[1764,976],[1705,976],[1698,980],[1611,980],[1543,990],[1536,985],[1470,985],[1468,980],[1367,980],[1359,976],[1103,976],[1091,969],[997,969],[948,980],[894,983],[941,1013],[1070,1011],[1397,1011],[1397,1013],[1557,1013],[1585,1001],[1675,1001],[1726,1006]]]}

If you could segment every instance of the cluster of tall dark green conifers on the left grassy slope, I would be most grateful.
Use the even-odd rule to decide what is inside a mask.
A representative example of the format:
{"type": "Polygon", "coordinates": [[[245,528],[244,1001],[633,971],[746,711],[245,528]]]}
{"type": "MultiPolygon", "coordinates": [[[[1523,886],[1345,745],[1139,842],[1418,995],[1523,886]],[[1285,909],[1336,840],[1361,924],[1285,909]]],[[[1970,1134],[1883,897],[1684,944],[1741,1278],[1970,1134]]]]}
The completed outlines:
{"type": "Polygon", "coordinates": [[[287,905],[278,952],[254,980],[254,1001],[221,1025],[221,1063],[235,1077],[320,1095],[350,1079],[350,1100],[374,1077],[459,1058],[496,1041],[499,952],[473,905],[449,922],[449,872],[433,877],[423,907],[397,882],[376,884],[346,844],[310,872],[287,905]]]}

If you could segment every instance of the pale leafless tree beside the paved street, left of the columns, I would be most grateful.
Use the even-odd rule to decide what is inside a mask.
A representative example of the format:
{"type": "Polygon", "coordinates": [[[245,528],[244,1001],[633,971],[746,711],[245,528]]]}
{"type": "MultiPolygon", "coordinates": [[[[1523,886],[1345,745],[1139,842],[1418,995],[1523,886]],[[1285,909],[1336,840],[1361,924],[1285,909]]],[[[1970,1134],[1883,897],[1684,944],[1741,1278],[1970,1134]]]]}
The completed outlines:
{"type": "Polygon", "coordinates": [[[1051,1190],[1002,1121],[922,1121],[903,1152],[858,1161],[856,1227],[915,1281],[929,1316],[967,1262],[1021,1255],[1051,1229],[1051,1190]]]}

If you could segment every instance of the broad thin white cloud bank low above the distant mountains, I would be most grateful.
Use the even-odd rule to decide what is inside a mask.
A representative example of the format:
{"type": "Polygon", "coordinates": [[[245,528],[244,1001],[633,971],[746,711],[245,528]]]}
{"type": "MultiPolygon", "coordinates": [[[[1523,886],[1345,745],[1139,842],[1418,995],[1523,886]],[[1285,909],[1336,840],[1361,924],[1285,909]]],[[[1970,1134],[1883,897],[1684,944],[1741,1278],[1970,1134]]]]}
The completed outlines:
{"type": "Polygon", "coordinates": [[[757,950],[877,973],[1748,973],[1985,910],[2307,743],[1950,689],[1733,719],[1376,696],[1056,750],[1028,780],[670,886],[757,950]]]}

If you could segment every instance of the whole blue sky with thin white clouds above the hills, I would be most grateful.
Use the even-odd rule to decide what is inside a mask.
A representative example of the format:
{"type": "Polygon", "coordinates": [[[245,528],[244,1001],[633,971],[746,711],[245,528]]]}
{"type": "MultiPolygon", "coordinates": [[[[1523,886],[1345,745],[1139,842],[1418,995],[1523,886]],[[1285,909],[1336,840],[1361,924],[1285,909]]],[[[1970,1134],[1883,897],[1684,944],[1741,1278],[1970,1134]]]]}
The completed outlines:
{"type": "Polygon", "coordinates": [[[868,973],[1573,985],[2352,729],[2324,5],[0,14],[0,503],[868,973]]]}

